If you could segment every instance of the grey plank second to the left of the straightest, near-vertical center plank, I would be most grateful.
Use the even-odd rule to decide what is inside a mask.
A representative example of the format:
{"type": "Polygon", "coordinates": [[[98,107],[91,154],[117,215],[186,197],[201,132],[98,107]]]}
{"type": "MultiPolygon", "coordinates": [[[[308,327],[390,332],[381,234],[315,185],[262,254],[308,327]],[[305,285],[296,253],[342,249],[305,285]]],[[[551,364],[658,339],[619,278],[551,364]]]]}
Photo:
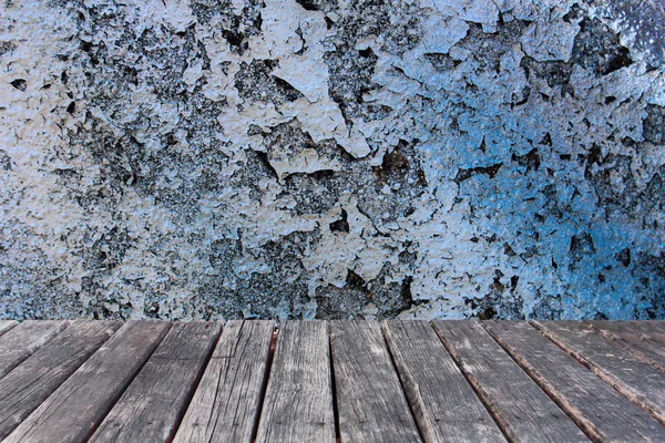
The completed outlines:
{"type": "Polygon", "coordinates": [[[166,442],[173,437],[221,323],[174,323],[91,442],[166,442]]]}

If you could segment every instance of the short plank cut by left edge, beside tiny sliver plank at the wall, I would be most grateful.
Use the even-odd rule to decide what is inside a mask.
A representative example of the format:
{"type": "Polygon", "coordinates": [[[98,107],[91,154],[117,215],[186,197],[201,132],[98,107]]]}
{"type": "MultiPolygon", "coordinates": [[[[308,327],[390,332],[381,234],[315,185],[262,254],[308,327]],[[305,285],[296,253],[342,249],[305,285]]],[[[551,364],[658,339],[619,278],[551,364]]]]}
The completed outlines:
{"type": "Polygon", "coordinates": [[[62,320],[25,320],[0,337],[0,378],[7,375],[69,324],[62,320]]]}

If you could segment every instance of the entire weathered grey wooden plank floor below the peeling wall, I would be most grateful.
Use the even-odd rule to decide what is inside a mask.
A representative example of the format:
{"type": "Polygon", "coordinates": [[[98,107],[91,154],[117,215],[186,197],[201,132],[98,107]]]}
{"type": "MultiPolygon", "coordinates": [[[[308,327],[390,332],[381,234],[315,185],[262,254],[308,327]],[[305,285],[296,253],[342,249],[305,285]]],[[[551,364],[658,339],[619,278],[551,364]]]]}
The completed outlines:
{"type": "Polygon", "coordinates": [[[665,442],[665,322],[0,320],[3,442],[665,442]]]}

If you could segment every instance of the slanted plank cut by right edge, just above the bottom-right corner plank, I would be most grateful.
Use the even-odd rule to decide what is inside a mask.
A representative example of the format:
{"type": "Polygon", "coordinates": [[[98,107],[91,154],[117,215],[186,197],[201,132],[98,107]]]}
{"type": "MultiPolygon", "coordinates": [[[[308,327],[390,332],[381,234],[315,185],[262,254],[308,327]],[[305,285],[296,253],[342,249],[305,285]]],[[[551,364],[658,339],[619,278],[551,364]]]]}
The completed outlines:
{"type": "Polygon", "coordinates": [[[665,424],[665,377],[579,321],[534,321],[543,333],[665,424]]]}

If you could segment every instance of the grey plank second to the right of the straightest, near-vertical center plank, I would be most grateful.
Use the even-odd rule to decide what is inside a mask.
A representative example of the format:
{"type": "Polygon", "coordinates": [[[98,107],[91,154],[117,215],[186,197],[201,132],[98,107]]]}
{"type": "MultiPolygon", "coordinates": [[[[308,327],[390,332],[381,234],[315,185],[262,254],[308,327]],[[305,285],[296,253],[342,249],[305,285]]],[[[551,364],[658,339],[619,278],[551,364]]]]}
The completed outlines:
{"type": "Polygon", "coordinates": [[[429,322],[383,321],[382,328],[424,441],[505,441],[429,322]]]}

